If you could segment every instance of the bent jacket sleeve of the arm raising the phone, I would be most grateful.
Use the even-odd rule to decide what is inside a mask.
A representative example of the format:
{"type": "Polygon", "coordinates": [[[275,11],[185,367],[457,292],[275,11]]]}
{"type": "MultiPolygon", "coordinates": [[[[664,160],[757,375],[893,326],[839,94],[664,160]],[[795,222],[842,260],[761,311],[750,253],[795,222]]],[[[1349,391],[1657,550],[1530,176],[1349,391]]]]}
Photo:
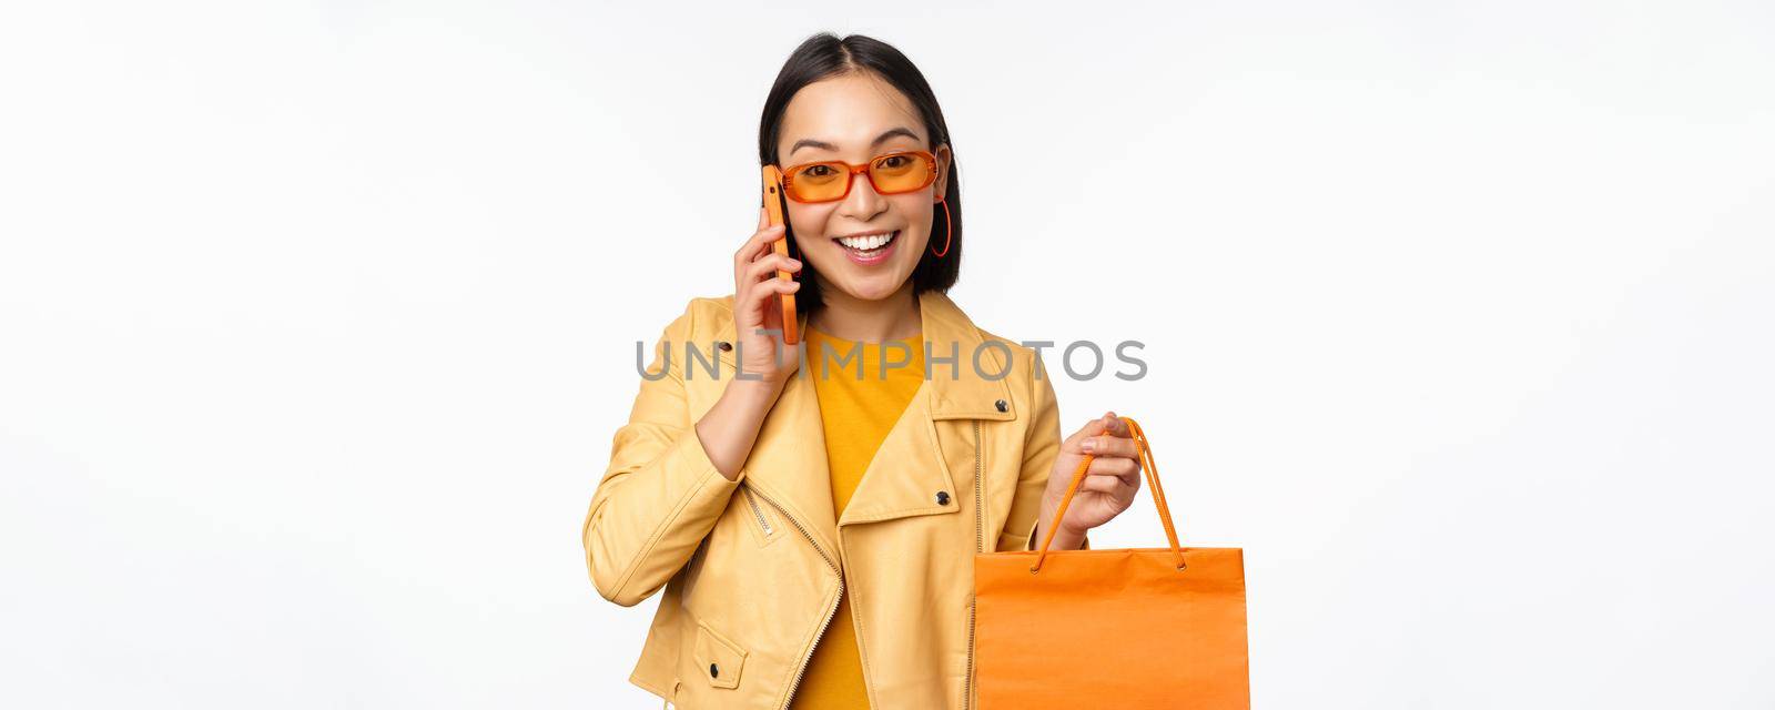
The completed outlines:
{"type": "Polygon", "coordinates": [[[611,465],[586,511],[582,543],[591,584],[630,607],[653,596],[690,559],[728,508],[744,470],[728,481],[708,460],[685,399],[685,346],[694,302],[653,348],[628,424],[616,430],[611,465]],[[674,355],[667,355],[674,353],[674,355]],[[650,375],[651,376],[651,375],[650,375]]]}

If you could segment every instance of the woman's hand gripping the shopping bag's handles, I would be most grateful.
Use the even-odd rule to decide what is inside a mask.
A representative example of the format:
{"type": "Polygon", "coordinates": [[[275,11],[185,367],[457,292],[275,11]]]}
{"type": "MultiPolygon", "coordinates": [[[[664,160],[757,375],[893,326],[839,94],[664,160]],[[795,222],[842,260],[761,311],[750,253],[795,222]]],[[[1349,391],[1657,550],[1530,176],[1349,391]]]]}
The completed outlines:
{"type": "Polygon", "coordinates": [[[1085,456],[1095,456],[1092,467],[1079,481],[1079,490],[1067,504],[1067,517],[1060,520],[1053,550],[1076,550],[1085,543],[1085,532],[1122,515],[1134,504],[1140,492],[1140,447],[1127,430],[1127,422],[1109,412],[1092,419],[1079,431],[1060,442],[1060,458],[1054,460],[1054,472],[1047,477],[1047,493],[1042,497],[1042,527],[1037,529],[1035,545],[1042,545],[1047,536],[1047,522],[1054,518],[1060,499],[1067,495],[1072,474],[1079,470],[1085,456]]]}

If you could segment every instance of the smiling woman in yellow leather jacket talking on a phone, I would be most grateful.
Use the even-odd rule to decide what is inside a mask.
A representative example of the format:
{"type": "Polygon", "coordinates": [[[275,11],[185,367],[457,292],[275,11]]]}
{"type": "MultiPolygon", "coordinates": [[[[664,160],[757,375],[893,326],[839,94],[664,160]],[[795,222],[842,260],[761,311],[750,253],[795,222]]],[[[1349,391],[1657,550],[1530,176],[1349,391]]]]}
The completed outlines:
{"type": "Polygon", "coordinates": [[[591,580],[621,605],[666,588],[630,682],[680,706],[971,706],[973,556],[1033,548],[1095,453],[1053,541],[1083,547],[1132,502],[1134,442],[1113,414],[1061,440],[1037,353],[946,296],[958,170],[900,51],[808,39],[758,135],[806,261],[760,211],[735,293],[666,327],[586,515],[591,580]]]}

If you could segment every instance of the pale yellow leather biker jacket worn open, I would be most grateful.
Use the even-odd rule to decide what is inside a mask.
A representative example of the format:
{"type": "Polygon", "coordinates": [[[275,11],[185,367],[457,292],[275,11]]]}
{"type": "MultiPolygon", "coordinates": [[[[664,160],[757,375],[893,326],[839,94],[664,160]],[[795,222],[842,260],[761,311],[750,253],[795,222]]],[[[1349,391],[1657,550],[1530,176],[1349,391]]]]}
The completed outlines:
{"type": "Polygon", "coordinates": [[[634,605],[666,588],[628,680],[682,708],[785,708],[848,593],[873,708],[971,708],[973,556],[1030,548],[1060,453],[1035,350],[919,295],[930,378],[834,520],[808,366],[738,479],[696,437],[735,371],[717,346],[733,343],[731,309],[733,296],[692,298],[666,327],[648,373],[666,346],[671,373],[643,378],[586,513],[604,598],[634,605]],[[719,378],[698,360],[687,371],[685,344],[719,357],[719,378]]]}

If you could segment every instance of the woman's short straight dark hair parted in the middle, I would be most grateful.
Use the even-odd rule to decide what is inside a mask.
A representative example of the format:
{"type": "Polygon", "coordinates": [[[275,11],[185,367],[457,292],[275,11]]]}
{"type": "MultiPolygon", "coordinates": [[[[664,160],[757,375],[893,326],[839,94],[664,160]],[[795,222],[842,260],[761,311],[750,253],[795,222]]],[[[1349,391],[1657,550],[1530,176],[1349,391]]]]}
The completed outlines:
{"type": "MultiPolygon", "coordinates": [[[[955,286],[955,277],[960,273],[962,264],[962,181],[955,162],[955,144],[950,140],[950,124],[943,121],[943,106],[937,105],[937,94],[930,91],[930,83],[925,82],[925,75],[918,71],[918,66],[911,59],[905,59],[900,50],[895,50],[893,44],[861,34],[838,37],[831,32],[820,32],[801,43],[788,55],[788,60],[783,62],[783,71],[777,73],[777,80],[770,87],[770,96],[765,98],[763,119],[758,122],[758,165],[781,165],[777,163],[777,140],[783,137],[783,112],[788,108],[788,101],[795,98],[795,92],[813,82],[848,73],[872,73],[898,89],[918,108],[918,115],[925,119],[925,133],[930,135],[930,147],[950,146],[950,174],[944,179],[943,193],[943,201],[950,206],[950,248],[941,259],[927,248],[919,256],[918,266],[912,268],[914,295],[925,291],[948,293],[950,286],[955,286]]],[[[788,220],[785,218],[785,222],[788,220]]],[[[932,213],[932,241],[943,231],[939,224],[943,224],[941,206],[932,213]]],[[[799,259],[801,254],[793,248],[793,227],[785,229],[790,229],[790,254],[799,259]]],[[[795,291],[795,305],[811,312],[822,304],[820,286],[811,279],[815,273],[813,264],[806,259],[802,259],[802,279],[799,279],[802,284],[795,291]]]]}

